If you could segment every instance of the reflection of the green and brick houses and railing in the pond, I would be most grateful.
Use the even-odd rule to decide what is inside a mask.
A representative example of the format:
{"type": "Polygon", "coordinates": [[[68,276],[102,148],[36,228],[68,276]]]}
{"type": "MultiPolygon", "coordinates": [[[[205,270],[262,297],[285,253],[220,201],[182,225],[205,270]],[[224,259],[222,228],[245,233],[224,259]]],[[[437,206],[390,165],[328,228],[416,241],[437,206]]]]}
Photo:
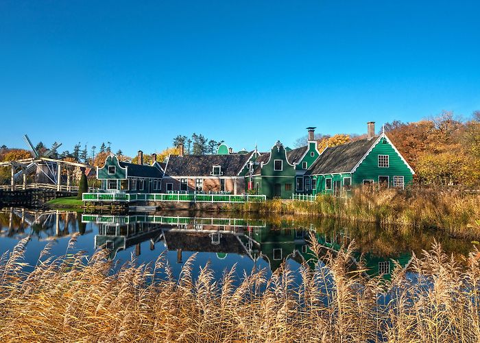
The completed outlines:
{"type": "MultiPolygon", "coordinates": [[[[165,215],[82,215],[82,222],[95,222],[99,234],[95,236],[95,248],[104,246],[110,250],[110,258],[117,252],[135,246],[137,256],[141,254],[141,243],[149,240],[150,250],[163,244],[167,250],[176,251],[177,262],[184,262],[183,252],[213,252],[218,259],[228,254],[247,256],[252,261],[260,259],[268,263],[274,272],[287,260],[302,263],[307,261],[311,268],[316,261],[307,244],[309,230],[315,232],[320,245],[333,252],[347,246],[350,237],[344,230],[320,233],[312,225],[305,229],[291,222],[269,224],[263,220],[248,220],[214,217],[180,217],[165,215]]],[[[370,276],[383,275],[389,278],[392,259],[406,268],[411,253],[400,252],[391,256],[355,252],[352,266],[363,259],[370,276]]]]}

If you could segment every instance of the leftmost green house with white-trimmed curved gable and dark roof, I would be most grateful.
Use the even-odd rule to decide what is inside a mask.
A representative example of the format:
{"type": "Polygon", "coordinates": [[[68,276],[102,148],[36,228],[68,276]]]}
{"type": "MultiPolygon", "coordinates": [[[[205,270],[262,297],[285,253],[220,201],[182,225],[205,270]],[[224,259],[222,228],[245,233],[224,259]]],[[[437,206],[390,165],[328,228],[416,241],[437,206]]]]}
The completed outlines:
{"type": "Polygon", "coordinates": [[[101,190],[124,193],[160,193],[163,169],[153,156],[152,165],[143,165],[143,152],[139,151],[139,164],[121,162],[114,154],[107,156],[104,167],[97,167],[101,190]]]}

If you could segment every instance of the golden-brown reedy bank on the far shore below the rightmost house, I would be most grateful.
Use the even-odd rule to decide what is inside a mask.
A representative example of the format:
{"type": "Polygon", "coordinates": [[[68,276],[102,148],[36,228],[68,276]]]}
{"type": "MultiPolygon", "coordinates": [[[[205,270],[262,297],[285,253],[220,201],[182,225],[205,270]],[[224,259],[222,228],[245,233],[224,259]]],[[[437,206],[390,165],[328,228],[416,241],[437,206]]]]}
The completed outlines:
{"type": "Polygon", "coordinates": [[[480,195],[462,191],[409,189],[354,191],[351,198],[318,196],[314,202],[271,200],[244,204],[239,211],[333,217],[382,225],[445,230],[455,237],[480,237],[480,195]]]}

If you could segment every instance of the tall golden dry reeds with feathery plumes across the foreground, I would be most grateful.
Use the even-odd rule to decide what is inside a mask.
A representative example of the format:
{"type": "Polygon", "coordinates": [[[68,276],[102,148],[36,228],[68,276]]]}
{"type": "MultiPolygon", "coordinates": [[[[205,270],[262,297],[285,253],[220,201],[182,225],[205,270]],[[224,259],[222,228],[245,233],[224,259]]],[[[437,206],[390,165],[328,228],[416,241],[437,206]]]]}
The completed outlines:
{"type": "MultiPolygon", "coordinates": [[[[434,244],[414,257],[416,282],[401,268],[389,282],[347,268],[353,245],[326,267],[307,263],[302,283],[283,265],[267,278],[252,270],[235,285],[235,267],[215,280],[211,266],[193,278],[193,259],[174,279],[163,255],[112,270],[107,252],[43,252],[25,274],[26,239],[0,259],[1,342],[478,342],[479,252],[462,270],[434,244]]],[[[311,239],[313,261],[321,247],[311,239]]]]}

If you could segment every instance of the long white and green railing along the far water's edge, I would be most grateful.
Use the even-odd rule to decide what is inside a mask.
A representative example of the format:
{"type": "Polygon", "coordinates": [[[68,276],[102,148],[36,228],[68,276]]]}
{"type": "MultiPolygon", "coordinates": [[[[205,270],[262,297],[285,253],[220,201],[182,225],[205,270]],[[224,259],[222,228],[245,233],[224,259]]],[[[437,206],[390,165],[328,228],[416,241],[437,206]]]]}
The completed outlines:
{"type": "Polygon", "coordinates": [[[203,194],[203,193],[83,193],[85,202],[263,202],[266,197],[249,194],[203,194]]]}

